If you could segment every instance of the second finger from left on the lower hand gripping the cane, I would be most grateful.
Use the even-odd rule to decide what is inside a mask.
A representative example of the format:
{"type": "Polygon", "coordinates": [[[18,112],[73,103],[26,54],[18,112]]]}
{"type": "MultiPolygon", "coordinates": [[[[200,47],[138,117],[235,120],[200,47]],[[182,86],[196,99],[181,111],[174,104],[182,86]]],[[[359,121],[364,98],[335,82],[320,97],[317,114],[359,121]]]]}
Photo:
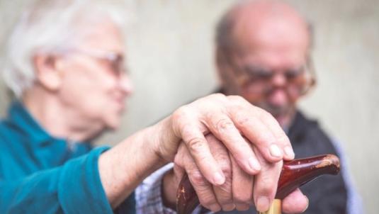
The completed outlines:
{"type": "Polygon", "coordinates": [[[213,186],[213,191],[222,210],[234,210],[232,199],[232,166],[229,153],[227,152],[227,148],[214,135],[207,135],[206,139],[210,146],[210,152],[225,175],[225,183],[221,186],[213,186]]]}

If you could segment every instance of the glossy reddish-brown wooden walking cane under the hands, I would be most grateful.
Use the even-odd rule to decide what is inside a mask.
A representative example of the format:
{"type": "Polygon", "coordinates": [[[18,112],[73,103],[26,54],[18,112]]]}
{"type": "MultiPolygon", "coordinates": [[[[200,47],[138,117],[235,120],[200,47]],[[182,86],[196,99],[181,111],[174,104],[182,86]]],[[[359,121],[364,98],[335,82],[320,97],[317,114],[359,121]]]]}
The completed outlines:
{"type": "MultiPolygon", "coordinates": [[[[278,181],[276,196],[269,210],[259,214],[281,214],[281,200],[296,188],[321,176],[338,174],[339,158],[334,154],[324,154],[304,159],[293,159],[284,162],[278,181]]],[[[179,214],[190,214],[199,205],[198,196],[188,176],[183,176],[176,195],[176,211],[179,214]]]]}

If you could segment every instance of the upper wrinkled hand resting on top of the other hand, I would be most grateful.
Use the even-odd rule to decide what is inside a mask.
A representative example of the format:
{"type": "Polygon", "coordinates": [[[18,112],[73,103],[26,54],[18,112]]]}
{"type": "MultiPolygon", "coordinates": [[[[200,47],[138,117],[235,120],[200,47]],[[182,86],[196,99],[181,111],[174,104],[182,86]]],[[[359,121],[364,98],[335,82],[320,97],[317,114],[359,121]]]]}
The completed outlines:
{"type": "Polygon", "coordinates": [[[261,164],[251,150],[253,144],[268,162],[294,158],[280,125],[271,114],[252,106],[240,96],[213,94],[182,106],[159,126],[157,153],[172,161],[181,140],[210,184],[225,183],[225,175],[210,152],[205,135],[212,133],[247,174],[257,174],[261,164]],[[251,142],[244,140],[244,137],[251,142]]]}

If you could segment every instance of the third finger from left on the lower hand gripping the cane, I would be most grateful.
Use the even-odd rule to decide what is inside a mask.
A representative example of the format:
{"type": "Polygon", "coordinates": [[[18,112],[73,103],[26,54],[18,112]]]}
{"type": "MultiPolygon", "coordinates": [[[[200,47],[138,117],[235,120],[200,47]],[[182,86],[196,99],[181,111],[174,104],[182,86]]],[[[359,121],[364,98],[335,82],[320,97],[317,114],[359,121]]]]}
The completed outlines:
{"type": "Polygon", "coordinates": [[[230,155],[232,162],[232,195],[237,210],[248,210],[253,200],[254,176],[247,174],[230,155]]]}

